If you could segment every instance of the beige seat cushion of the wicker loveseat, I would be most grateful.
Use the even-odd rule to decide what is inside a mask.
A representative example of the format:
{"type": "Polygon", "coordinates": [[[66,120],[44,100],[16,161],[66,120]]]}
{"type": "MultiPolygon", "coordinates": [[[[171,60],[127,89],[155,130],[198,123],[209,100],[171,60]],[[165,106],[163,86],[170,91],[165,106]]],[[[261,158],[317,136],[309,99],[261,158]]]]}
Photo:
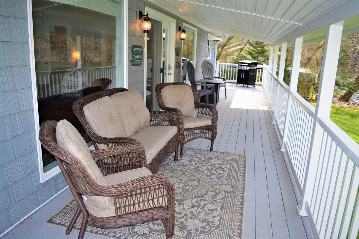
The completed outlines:
{"type": "Polygon", "coordinates": [[[149,126],[137,131],[130,138],[138,140],[143,145],[149,164],[175,134],[176,126],[149,126]]]}

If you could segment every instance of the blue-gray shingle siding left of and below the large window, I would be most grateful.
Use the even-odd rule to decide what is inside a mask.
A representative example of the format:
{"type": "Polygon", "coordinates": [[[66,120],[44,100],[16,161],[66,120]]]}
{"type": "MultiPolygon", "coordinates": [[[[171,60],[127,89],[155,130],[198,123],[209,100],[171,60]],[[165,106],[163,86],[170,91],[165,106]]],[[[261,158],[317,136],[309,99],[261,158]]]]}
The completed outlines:
{"type": "Polygon", "coordinates": [[[0,234],[67,186],[40,183],[26,0],[0,0],[0,234]]]}

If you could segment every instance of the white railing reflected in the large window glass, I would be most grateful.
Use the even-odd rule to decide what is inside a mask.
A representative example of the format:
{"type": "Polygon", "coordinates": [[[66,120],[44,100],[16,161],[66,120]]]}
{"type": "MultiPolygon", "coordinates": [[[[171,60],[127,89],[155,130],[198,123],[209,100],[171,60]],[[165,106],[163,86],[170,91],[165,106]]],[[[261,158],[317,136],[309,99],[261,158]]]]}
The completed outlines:
{"type": "MultiPolygon", "coordinates": [[[[76,69],[67,69],[67,70],[56,70],[56,71],[38,71],[36,72],[36,82],[37,82],[37,98],[43,98],[52,95],[58,95],[64,92],[62,86],[62,79],[65,76],[66,72],[76,69]]],[[[81,70],[81,69],[77,69],[81,70]]],[[[106,66],[106,67],[97,67],[97,68],[83,68],[82,70],[87,71],[85,85],[87,87],[91,86],[91,83],[100,78],[109,78],[111,84],[108,86],[108,89],[115,87],[116,79],[116,66],[106,66]]],[[[74,89],[75,90],[75,87],[74,89]]],[[[71,89],[66,89],[66,92],[71,92],[71,89]]]]}

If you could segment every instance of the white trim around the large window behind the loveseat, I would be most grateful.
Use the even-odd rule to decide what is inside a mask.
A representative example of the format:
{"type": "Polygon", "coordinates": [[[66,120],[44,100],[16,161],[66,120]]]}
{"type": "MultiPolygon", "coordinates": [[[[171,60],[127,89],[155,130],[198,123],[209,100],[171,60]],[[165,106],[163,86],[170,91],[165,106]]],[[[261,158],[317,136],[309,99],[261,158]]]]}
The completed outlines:
{"type": "MultiPolygon", "coordinates": [[[[128,24],[128,0],[123,1],[123,85],[127,88],[127,24],[128,24]]],[[[28,36],[29,36],[29,53],[30,53],[30,75],[31,75],[31,87],[32,87],[32,101],[33,101],[33,115],[34,115],[34,124],[35,124],[35,135],[36,135],[36,149],[37,149],[37,159],[39,165],[39,176],[40,183],[47,181],[53,176],[61,172],[59,166],[56,166],[50,169],[47,172],[43,172],[42,165],[42,153],[41,153],[41,143],[39,140],[39,110],[37,106],[37,82],[36,82],[36,70],[35,70],[35,52],[34,52],[34,34],[33,34],[33,22],[32,22],[32,4],[31,1],[27,3],[27,24],[28,24],[28,36]]],[[[117,83],[118,85],[119,83],[117,83]]],[[[122,82],[120,83],[122,84],[122,82]]]]}

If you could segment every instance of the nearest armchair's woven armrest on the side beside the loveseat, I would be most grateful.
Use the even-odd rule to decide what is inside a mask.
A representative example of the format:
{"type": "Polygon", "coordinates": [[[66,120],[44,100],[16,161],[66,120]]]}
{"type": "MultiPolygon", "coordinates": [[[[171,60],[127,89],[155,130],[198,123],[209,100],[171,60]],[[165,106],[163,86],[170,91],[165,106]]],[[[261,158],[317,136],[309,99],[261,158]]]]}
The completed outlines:
{"type": "Polygon", "coordinates": [[[107,149],[91,150],[90,152],[92,158],[97,161],[104,176],[147,167],[145,152],[136,145],[128,144],[107,149]]]}

